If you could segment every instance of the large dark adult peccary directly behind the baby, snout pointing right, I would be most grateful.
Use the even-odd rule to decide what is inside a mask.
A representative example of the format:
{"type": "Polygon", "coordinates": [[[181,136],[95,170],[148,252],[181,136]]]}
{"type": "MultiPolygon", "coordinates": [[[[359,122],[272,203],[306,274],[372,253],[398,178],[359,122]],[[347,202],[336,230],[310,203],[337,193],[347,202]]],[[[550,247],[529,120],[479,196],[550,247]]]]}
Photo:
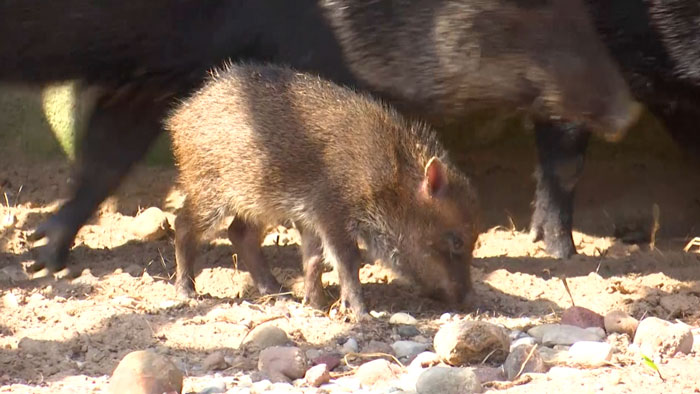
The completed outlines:
{"type": "MultiPolygon", "coordinates": [[[[103,91],[76,192],[32,236],[49,239],[35,270],[65,267],[78,229],[143,156],[172,98],[226,58],[317,73],[435,123],[501,106],[614,139],[636,116],[580,0],[2,0],[0,37],[0,81],[78,78],[103,91]]],[[[538,201],[545,218],[560,214],[551,201],[538,201]]]]}

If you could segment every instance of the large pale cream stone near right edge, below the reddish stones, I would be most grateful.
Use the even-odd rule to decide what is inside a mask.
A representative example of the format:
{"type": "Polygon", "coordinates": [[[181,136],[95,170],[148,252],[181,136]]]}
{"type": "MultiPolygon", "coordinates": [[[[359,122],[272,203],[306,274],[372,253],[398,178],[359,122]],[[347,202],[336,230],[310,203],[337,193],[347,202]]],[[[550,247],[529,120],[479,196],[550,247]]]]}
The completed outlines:
{"type": "Polygon", "coordinates": [[[647,357],[673,357],[676,353],[690,353],[693,334],[685,324],[647,317],[639,323],[633,343],[647,357]]]}

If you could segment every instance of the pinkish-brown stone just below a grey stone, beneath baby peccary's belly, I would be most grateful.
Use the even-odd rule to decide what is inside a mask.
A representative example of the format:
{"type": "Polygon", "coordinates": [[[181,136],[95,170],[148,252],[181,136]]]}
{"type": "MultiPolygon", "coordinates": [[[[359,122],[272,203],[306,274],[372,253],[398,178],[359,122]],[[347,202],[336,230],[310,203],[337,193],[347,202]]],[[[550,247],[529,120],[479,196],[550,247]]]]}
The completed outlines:
{"type": "Polygon", "coordinates": [[[291,382],[304,377],[308,363],[298,347],[272,346],[260,352],[258,370],[273,382],[291,382]]]}

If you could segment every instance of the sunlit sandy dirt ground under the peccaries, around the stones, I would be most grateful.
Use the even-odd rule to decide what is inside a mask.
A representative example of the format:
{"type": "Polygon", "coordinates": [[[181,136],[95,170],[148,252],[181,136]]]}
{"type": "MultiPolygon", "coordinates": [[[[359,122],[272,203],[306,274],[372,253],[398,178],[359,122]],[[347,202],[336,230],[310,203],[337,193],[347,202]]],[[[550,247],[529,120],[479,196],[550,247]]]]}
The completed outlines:
{"type": "MultiPolygon", "coordinates": [[[[407,311],[419,319],[426,337],[434,335],[446,311],[526,329],[555,321],[571,306],[565,277],[576,305],[700,326],[700,254],[683,252],[693,236],[700,236],[700,172],[675,160],[674,150],[655,152],[634,143],[594,149],[576,200],[574,238],[580,254],[568,261],[549,258],[526,232],[533,192],[531,146],[460,155],[484,210],[472,269],[477,309],[447,310],[396,281],[390,270],[365,265],[361,277],[369,309],[407,311]],[[661,228],[652,250],[645,238],[653,204],[659,206],[661,228]],[[613,234],[641,243],[623,243],[613,234]]],[[[175,301],[172,236],[142,242],[129,231],[133,216],[147,207],[177,212],[182,196],[173,187],[175,171],[168,168],[137,168],[80,231],[71,262],[86,269],[81,277],[8,280],[21,278],[21,268],[31,262],[26,235],[69,195],[69,168],[60,159],[17,154],[12,146],[0,150],[0,195],[6,193],[9,203],[8,208],[3,201],[0,208],[0,298],[12,294],[17,300],[14,307],[0,302],[0,392],[101,392],[124,355],[147,348],[185,370],[184,392],[201,390],[211,380],[213,373],[200,366],[214,351],[231,361],[220,374],[235,382],[256,367],[255,355],[239,348],[242,339],[267,319],[275,319],[304,349],[336,346],[349,336],[360,342],[391,340],[392,329],[384,321],[356,325],[301,306],[298,298],[258,299],[249,275],[234,269],[223,232],[203,248],[197,285],[204,296],[175,301]],[[8,216],[16,223],[6,222],[8,216]]],[[[298,297],[301,269],[294,232],[274,230],[265,245],[276,276],[298,297]]],[[[337,296],[334,272],[324,274],[324,283],[337,296]]],[[[532,375],[526,384],[489,390],[700,392],[700,355],[677,357],[659,368],[665,380],[622,352],[602,368],[559,368],[532,375]]]]}

